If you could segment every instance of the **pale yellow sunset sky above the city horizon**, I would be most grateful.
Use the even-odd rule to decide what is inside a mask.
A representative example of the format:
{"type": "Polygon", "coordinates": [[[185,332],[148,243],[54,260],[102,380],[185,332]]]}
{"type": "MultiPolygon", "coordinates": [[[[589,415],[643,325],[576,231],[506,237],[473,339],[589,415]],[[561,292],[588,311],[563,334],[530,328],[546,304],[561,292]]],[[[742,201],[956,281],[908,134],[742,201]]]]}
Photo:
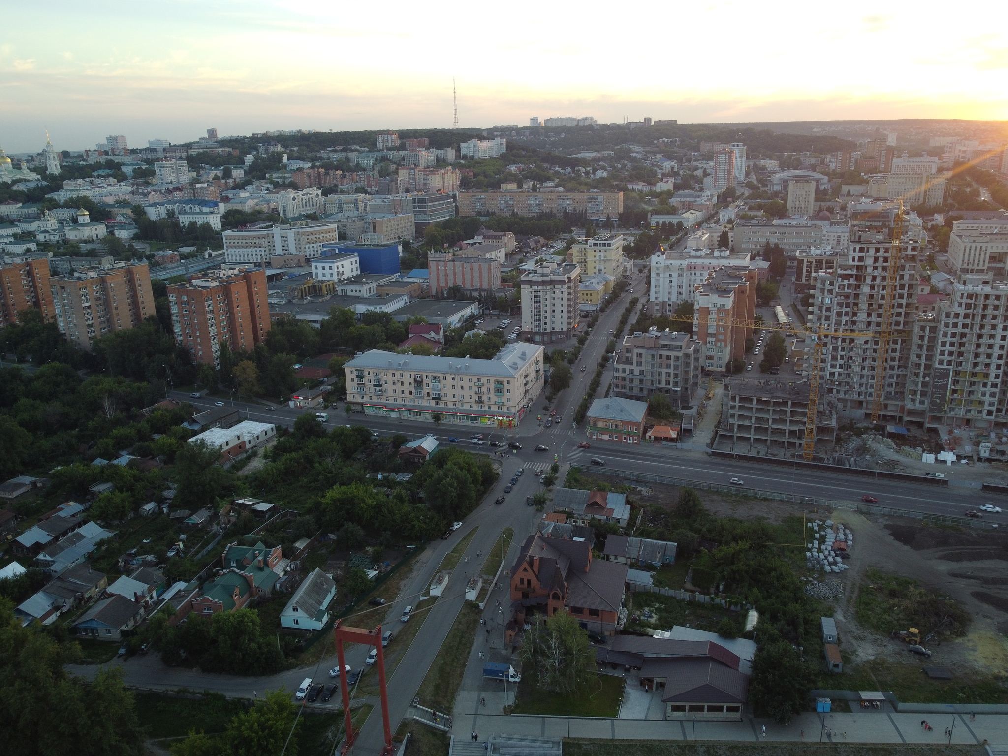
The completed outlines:
{"type": "Polygon", "coordinates": [[[1008,24],[982,22],[1003,12],[994,0],[9,2],[0,147],[37,151],[46,129],[73,150],[211,127],[450,128],[453,77],[473,127],[1008,119],[1008,24]]]}

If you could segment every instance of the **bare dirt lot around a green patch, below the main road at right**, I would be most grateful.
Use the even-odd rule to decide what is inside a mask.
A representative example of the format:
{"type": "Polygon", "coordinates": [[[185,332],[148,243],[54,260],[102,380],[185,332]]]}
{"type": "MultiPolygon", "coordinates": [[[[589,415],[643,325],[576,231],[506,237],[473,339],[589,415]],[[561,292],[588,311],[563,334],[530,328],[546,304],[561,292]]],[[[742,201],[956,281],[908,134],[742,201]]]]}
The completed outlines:
{"type": "MultiPolygon", "coordinates": [[[[780,522],[801,514],[800,505],[765,502],[743,497],[698,492],[715,514],[741,519],[780,522]]],[[[678,489],[654,485],[630,498],[642,503],[670,505],[678,489]]],[[[965,637],[927,647],[934,656],[927,663],[946,666],[955,674],[1008,677],[1008,533],[963,530],[925,525],[919,520],[865,517],[856,512],[814,509],[814,518],[832,518],[849,526],[855,535],[851,569],[840,576],[846,584],[843,602],[836,606],[841,650],[848,664],[877,660],[887,664],[923,664],[911,657],[903,644],[860,626],[856,617],[858,592],[870,568],[911,578],[923,587],[958,601],[972,617],[965,637]]],[[[822,576],[816,576],[822,578],[822,576]]],[[[895,629],[895,628],[894,628],[895,629]]],[[[919,672],[918,672],[919,673],[919,672]]],[[[839,682],[839,680],[838,680],[839,682]]],[[[881,681],[880,681],[880,684],[881,681]]]]}

